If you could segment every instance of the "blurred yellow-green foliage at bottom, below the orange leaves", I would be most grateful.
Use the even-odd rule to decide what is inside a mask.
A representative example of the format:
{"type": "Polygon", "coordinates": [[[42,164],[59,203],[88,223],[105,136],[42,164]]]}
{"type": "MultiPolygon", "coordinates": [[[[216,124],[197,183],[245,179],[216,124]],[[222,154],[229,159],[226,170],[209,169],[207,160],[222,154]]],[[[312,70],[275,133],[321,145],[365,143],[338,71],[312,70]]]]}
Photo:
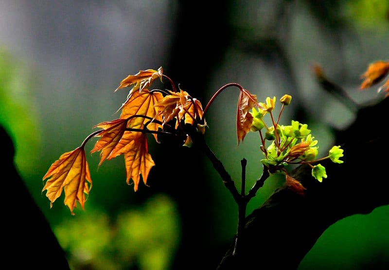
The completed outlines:
{"type": "Polygon", "coordinates": [[[73,269],[169,269],[181,234],[169,197],[156,195],[117,218],[97,209],[87,212],[54,228],[73,269]]]}

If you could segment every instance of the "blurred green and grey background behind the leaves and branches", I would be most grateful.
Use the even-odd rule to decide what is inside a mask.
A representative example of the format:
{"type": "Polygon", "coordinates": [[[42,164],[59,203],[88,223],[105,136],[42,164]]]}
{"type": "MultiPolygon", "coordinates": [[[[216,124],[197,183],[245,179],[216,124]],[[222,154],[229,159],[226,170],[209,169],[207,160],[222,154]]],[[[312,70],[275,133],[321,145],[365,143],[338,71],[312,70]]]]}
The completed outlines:
{"type": "MultiPolygon", "coordinates": [[[[235,234],[237,207],[195,149],[151,143],[156,167],[149,186],[137,192],[125,183],[122,157],[98,168],[99,155],[87,156],[93,188],[75,216],[63,195],[50,208],[43,175],[93,125],[117,118],[128,94],[114,92],[122,79],[160,66],[203,106],[231,82],[260,101],[290,94],[282,120],[308,123],[326,149],[332,128],[347,127],[354,112],[320,88],[313,63],[355,102],[367,102],[376,89],[359,91],[360,75],[369,63],[389,59],[388,41],[388,0],[2,0],[0,123],[72,269],[169,270],[188,261],[214,269],[235,234]]],[[[206,140],[234,180],[240,160],[248,160],[249,188],[262,172],[262,157],[255,136],[237,145],[237,98],[231,88],[216,99],[206,140]]],[[[248,212],[281,184],[279,177],[268,179],[248,212]]],[[[387,206],[331,226],[299,270],[373,266],[389,267],[387,206]]]]}

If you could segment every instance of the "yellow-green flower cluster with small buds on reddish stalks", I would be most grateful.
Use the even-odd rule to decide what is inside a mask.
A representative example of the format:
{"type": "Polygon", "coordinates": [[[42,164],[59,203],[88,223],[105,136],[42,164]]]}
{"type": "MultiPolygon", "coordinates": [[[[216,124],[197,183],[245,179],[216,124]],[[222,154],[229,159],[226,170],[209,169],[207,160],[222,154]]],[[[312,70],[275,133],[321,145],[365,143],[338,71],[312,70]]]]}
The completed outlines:
{"type": "MultiPolygon", "coordinates": [[[[289,105],[291,100],[290,95],[284,95],[280,102],[284,107],[289,105]]],[[[312,168],[312,176],[321,182],[323,178],[327,178],[325,168],[321,164],[315,166],[312,164],[327,158],[335,163],[343,163],[339,160],[343,156],[343,150],[340,149],[340,146],[334,146],[326,157],[317,159],[318,141],[311,135],[308,125],[295,120],[292,120],[290,125],[279,125],[278,120],[275,122],[272,115],[275,103],[276,97],[266,98],[265,103],[259,102],[260,107],[253,108],[250,112],[253,117],[250,130],[259,132],[261,135],[262,145],[260,149],[265,155],[261,162],[269,169],[271,168],[272,172],[285,174],[287,172],[284,168],[288,164],[309,164],[312,168]],[[266,114],[270,115],[270,125],[265,123],[264,116],[266,114]],[[266,141],[270,141],[267,147],[265,146],[266,141]]],[[[283,107],[278,119],[281,117],[283,107]]]]}

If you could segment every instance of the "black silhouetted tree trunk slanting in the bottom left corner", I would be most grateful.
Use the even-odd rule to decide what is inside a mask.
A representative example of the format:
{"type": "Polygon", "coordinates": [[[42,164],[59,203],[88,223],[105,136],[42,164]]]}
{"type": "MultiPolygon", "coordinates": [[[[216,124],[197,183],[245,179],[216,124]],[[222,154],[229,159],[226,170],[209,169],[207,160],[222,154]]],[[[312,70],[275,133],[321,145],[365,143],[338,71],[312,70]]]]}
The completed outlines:
{"type": "Polygon", "coordinates": [[[0,126],[3,195],[2,265],[12,269],[69,270],[68,261],[50,225],[20,178],[14,164],[15,149],[0,126]],[[11,195],[11,196],[10,196],[11,195]],[[7,198],[7,197],[5,197],[7,198]],[[5,226],[5,228],[4,228],[5,226]]]}

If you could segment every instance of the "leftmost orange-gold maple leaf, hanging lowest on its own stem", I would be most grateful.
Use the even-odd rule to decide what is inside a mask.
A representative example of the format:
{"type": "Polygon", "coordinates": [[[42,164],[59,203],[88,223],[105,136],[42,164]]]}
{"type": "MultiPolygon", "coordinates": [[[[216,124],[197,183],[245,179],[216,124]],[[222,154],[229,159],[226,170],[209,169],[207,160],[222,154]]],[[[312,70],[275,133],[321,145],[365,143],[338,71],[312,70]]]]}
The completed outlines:
{"type": "Polygon", "coordinates": [[[63,153],[43,176],[43,181],[45,179],[47,181],[42,192],[47,190],[46,197],[50,200],[50,207],[53,207],[53,202],[61,196],[63,188],[64,203],[69,207],[71,214],[74,215],[73,209],[77,202],[84,209],[85,194],[88,195],[92,188],[84,147],[63,153]]]}

